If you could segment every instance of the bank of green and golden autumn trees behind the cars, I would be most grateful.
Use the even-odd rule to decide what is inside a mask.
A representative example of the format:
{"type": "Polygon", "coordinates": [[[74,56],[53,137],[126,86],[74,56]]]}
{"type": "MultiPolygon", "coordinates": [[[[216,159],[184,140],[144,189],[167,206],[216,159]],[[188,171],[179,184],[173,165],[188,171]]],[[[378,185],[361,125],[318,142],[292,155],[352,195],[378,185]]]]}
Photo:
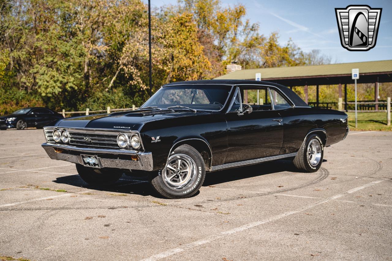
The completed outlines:
{"type": "MultiPolygon", "coordinates": [[[[153,91],[245,68],[328,63],[278,33],[259,34],[237,4],[181,0],[152,11],[153,91]]],[[[121,108],[148,97],[148,13],[141,0],[0,0],[0,114],[25,106],[121,108]]]]}

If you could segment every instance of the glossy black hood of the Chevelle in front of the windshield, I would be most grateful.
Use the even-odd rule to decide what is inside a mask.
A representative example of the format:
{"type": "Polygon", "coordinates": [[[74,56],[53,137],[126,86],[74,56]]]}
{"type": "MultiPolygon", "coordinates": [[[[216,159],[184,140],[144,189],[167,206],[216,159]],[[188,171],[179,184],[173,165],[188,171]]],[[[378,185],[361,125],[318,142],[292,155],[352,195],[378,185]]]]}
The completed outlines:
{"type": "Polygon", "coordinates": [[[205,112],[187,112],[172,110],[136,110],[114,112],[111,114],[96,114],[90,116],[79,116],[65,118],[60,121],[58,127],[66,128],[89,128],[89,129],[119,129],[119,130],[136,130],[138,123],[147,121],[162,120],[165,118],[173,118],[179,116],[193,116],[205,114],[205,112]]]}

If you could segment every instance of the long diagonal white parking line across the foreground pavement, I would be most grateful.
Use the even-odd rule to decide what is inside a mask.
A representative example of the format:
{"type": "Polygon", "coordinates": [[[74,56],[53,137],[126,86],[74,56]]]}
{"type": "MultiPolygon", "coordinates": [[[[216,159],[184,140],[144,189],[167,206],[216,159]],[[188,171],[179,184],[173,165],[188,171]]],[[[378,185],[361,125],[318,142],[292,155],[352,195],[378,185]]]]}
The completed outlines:
{"type": "Polygon", "coordinates": [[[277,215],[277,216],[274,216],[274,217],[270,217],[268,219],[252,222],[252,223],[240,226],[240,227],[236,227],[236,228],[233,228],[233,229],[230,229],[230,230],[227,230],[227,231],[223,231],[223,232],[220,233],[221,235],[216,235],[216,236],[208,237],[206,239],[193,241],[193,242],[191,242],[189,244],[186,244],[186,245],[183,245],[181,247],[169,249],[167,251],[161,252],[161,253],[156,254],[154,256],[147,257],[147,258],[143,259],[143,261],[154,261],[154,260],[159,260],[159,259],[162,259],[162,258],[165,258],[165,257],[168,257],[168,256],[172,256],[174,254],[177,254],[177,253],[183,252],[185,250],[191,249],[191,248],[193,248],[195,246],[200,246],[200,245],[209,243],[209,242],[211,242],[213,240],[220,239],[220,238],[224,237],[225,235],[235,234],[237,232],[241,232],[241,231],[247,230],[249,228],[253,228],[253,227],[256,227],[256,226],[259,226],[259,225],[262,225],[262,224],[265,224],[265,223],[268,223],[268,222],[271,222],[271,221],[275,221],[275,220],[281,219],[283,217],[290,216],[292,214],[296,214],[298,212],[302,212],[304,210],[308,210],[310,208],[313,208],[313,207],[316,207],[318,205],[327,203],[328,201],[331,201],[331,200],[334,200],[334,199],[337,199],[337,198],[341,198],[341,197],[343,197],[343,196],[345,196],[347,194],[351,194],[351,193],[356,192],[358,190],[361,190],[363,188],[367,188],[367,187],[373,186],[373,185],[375,185],[377,183],[380,183],[382,181],[383,180],[373,181],[373,182],[367,183],[367,184],[365,184],[363,186],[347,190],[346,192],[343,192],[341,194],[335,195],[335,196],[333,196],[331,198],[324,199],[322,201],[319,201],[319,202],[314,203],[312,205],[309,205],[307,207],[299,208],[297,210],[293,210],[293,211],[290,211],[290,212],[285,212],[283,214],[280,214],[280,215],[277,215]]]}

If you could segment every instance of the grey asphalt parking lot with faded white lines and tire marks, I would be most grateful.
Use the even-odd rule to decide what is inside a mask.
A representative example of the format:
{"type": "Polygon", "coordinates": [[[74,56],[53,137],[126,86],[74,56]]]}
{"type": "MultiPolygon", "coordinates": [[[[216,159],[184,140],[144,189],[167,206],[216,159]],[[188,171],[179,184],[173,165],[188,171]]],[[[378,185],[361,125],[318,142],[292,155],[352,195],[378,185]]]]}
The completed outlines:
{"type": "Polygon", "coordinates": [[[44,141],[42,130],[0,131],[0,256],[392,260],[392,132],[350,132],[316,173],[284,160],[214,172],[175,200],[136,177],[91,188],[44,141]]]}

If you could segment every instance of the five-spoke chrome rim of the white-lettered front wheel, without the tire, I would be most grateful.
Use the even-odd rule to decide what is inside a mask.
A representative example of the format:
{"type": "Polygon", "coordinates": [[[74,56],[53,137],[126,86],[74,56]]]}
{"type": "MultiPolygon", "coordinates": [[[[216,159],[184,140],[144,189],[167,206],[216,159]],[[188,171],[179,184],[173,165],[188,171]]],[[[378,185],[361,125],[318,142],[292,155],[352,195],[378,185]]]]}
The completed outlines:
{"type": "Polygon", "coordinates": [[[185,154],[171,156],[162,172],[163,181],[173,189],[186,189],[196,176],[196,163],[185,154]]]}

